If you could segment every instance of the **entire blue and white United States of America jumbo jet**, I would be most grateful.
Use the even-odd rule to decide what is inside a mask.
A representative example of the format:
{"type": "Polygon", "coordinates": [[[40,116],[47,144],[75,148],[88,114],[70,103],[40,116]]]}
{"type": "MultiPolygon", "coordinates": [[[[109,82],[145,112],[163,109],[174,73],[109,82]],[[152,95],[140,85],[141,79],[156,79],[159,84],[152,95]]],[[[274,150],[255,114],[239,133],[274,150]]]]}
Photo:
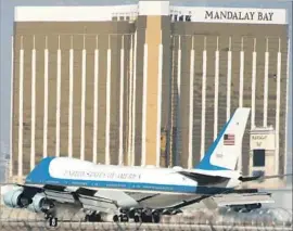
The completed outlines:
{"type": "Polygon", "coordinates": [[[184,206],[201,201],[211,208],[219,204],[259,208],[260,203],[273,202],[268,193],[237,189],[260,177],[243,177],[235,170],[249,115],[250,108],[238,108],[193,169],[97,165],[47,157],[24,184],[14,184],[3,195],[4,204],[43,213],[49,220],[56,220],[64,208],[69,208],[82,211],[85,221],[90,222],[160,222],[162,215],[181,213],[184,206]],[[227,200],[232,194],[247,196],[227,200]]]}

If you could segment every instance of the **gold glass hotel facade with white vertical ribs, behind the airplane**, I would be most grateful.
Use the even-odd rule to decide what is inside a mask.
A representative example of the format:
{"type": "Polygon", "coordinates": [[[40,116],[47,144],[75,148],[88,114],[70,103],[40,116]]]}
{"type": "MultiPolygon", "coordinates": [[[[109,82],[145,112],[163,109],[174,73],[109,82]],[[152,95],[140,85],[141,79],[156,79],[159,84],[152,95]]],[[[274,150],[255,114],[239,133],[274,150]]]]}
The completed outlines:
{"type": "Polygon", "coordinates": [[[15,22],[12,176],[46,156],[193,167],[238,106],[272,126],[283,171],[286,25],[15,22]]]}

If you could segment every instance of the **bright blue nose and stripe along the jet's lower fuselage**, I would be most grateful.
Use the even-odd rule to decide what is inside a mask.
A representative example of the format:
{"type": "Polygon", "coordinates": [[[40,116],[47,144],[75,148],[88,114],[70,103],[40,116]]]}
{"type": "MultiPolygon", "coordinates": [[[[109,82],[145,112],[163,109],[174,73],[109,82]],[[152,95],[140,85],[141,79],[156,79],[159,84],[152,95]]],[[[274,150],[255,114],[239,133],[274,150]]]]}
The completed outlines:
{"type": "Polygon", "coordinates": [[[157,183],[141,183],[141,182],[123,182],[123,181],[97,181],[97,180],[73,180],[52,178],[49,175],[49,166],[54,157],[42,159],[38,166],[27,176],[26,183],[28,184],[54,184],[65,187],[89,187],[89,188],[107,188],[122,190],[143,190],[143,191],[161,191],[171,193],[194,193],[194,194],[215,194],[226,191],[227,188],[216,187],[189,187],[180,184],[157,184],[157,183]]]}

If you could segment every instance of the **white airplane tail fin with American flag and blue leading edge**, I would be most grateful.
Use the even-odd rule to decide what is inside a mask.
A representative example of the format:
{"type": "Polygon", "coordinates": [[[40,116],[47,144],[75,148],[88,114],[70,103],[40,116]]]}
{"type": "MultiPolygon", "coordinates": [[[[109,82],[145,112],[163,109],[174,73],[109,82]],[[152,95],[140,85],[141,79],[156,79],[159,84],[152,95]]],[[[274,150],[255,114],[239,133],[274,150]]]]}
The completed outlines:
{"type": "Polygon", "coordinates": [[[250,108],[239,107],[226,123],[196,169],[234,170],[242,152],[242,139],[250,108]]]}

